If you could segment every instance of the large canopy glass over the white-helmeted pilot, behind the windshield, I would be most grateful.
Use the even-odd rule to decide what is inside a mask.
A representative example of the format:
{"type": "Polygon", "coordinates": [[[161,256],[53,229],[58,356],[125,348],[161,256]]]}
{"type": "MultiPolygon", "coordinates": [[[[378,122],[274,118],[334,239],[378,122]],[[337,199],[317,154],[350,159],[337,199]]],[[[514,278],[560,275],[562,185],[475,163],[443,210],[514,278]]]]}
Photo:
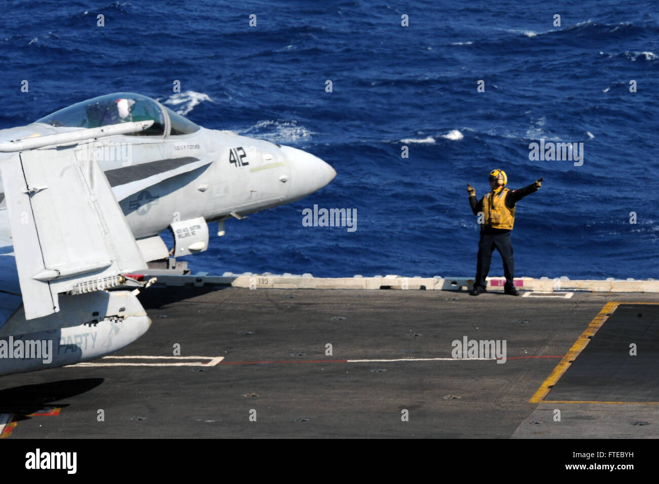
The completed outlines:
{"type": "Polygon", "coordinates": [[[94,97],[60,109],[36,122],[50,126],[99,128],[131,121],[154,121],[150,128],[134,133],[134,136],[162,136],[165,132],[165,115],[158,103],[150,97],[127,92],[94,97]]]}

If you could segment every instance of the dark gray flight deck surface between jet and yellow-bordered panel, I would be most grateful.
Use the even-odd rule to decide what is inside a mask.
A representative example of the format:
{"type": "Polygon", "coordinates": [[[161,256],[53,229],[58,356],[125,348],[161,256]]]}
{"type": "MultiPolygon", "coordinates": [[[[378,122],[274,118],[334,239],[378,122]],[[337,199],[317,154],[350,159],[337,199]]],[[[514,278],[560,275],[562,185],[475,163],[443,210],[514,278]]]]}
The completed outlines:
{"type": "MultiPolygon", "coordinates": [[[[2,377],[0,413],[19,419],[9,439],[536,434],[538,425],[516,431],[539,408],[529,398],[604,304],[659,297],[152,288],[140,299],[153,325],[120,355],[171,356],[178,343],[182,356],[225,360],[207,371],[69,367],[2,377]],[[507,362],[345,362],[450,357],[451,342],[463,336],[507,340],[507,362]],[[332,356],[326,355],[327,343],[332,356]],[[27,417],[43,406],[62,410],[59,416],[27,417]],[[98,410],[105,421],[98,421],[98,410]],[[250,410],[256,410],[256,421],[249,420],[250,410]],[[409,411],[409,421],[401,420],[402,410],[409,411]]],[[[621,406],[596,415],[620,420],[612,407],[621,406]]],[[[592,418],[574,420],[570,428],[577,436],[608,436],[610,425],[592,427],[592,418]]],[[[625,421],[632,437],[652,435],[659,426],[651,416],[642,418],[654,424],[625,421]]],[[[565,428],[552,427],[558,435],[565,428]]]]}

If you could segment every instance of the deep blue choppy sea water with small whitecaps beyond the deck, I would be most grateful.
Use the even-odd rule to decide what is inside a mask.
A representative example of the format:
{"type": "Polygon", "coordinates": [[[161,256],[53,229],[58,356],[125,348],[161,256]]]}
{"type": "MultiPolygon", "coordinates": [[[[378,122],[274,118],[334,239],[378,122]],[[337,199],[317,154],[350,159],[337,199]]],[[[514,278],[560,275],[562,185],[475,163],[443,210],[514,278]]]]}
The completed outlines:
{"type": "MultiPolygon", "coordinates": [[[[10,0],[0,128],[139,92],[336,169],[308,198],[227,222],[190,258],[195,270],[473,276],[467,182],[480,198],[501,168],[510,188],[544,177],[517,205],[517,276],[657,277],[658,10],[611,0],[10,0]],[[530,161],[540,138],[583,142],[583,165],[530,161]],[[357,230],[303,227],[314,204],[357,209],[357,230]]],[[[494,254],[490,275],[502,272],[494,254]]]]}

